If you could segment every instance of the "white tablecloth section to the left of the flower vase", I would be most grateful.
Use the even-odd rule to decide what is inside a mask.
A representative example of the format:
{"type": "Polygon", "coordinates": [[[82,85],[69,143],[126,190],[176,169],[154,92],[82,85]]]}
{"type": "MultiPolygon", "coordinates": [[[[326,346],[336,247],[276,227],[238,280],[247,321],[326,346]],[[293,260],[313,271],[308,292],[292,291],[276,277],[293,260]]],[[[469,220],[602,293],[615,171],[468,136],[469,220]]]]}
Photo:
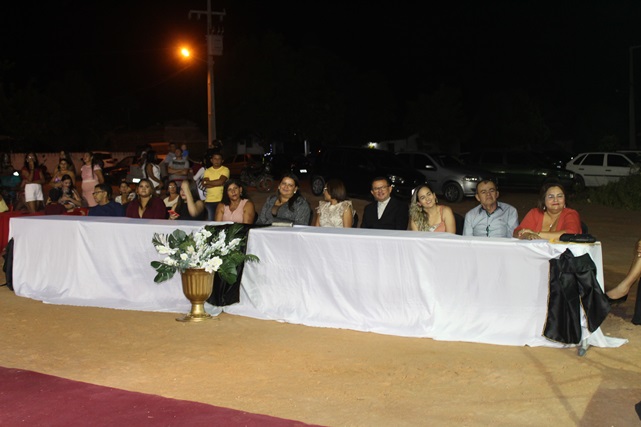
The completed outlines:
{"type": "Polygon", "coordinates": [[[151,239],[196,221],[110,217],[12,218],[16,295],[52,304],[188,312],[180,274],[155,283],[151,261],[162,260],[151,239]]]}

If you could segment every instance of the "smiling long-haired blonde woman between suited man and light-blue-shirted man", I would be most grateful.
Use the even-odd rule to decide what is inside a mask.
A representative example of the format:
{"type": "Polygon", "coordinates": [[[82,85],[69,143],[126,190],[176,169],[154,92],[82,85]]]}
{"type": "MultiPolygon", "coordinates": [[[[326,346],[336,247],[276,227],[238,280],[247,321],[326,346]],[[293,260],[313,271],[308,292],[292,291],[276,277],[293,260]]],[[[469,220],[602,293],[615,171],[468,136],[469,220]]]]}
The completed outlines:
{"type": "Polygon", "coordinates": [[[428,184],[414,189],[410,203],[410,230],[456,233],[454,212],[438,204],[436,194],[428,184]]]}

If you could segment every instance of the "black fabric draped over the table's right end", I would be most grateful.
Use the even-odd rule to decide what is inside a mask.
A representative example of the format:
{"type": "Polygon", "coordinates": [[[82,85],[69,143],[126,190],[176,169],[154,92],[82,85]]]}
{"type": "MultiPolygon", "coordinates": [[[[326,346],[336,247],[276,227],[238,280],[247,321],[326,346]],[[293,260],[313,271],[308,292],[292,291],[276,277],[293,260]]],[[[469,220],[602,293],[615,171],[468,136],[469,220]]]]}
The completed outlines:
{"type": "Polygon", "coordinates": [[[610,312],[610,303],[596,278],[589,254],[575,257],[566,249],[550,260],[550,293],[543,335],[565,344],[581,342],[581,307],[587,327],[594,332],[610,312]]]}

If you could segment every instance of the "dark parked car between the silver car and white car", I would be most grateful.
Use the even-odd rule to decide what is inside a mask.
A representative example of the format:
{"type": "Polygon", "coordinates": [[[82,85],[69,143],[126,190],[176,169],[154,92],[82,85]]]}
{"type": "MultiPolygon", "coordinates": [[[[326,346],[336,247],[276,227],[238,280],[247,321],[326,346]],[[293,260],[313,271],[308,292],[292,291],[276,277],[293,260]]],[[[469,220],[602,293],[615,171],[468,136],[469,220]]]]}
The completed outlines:
{"type": "Polygon", "coordinates": [[[539,190],[546,182],[559,182],[568,190],[580,183],[574,173],[548,163],[529,151],[484,150],[466,155],[465,164],[480,167],[496,177],[501,188],[539,190]]]}

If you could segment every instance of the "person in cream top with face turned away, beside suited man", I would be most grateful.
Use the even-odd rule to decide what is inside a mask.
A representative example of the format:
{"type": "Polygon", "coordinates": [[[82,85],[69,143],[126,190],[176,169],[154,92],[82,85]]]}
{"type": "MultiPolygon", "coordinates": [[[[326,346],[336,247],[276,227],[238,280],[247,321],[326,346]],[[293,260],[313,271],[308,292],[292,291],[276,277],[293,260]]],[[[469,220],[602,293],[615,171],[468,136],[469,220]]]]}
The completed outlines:
{"type": "Polygon", "coordinates": [[[340,179],[330,179],[323,188],[323,198],[316,208],[316,227],[350,228],[354,223],[354,207],[347,200],[345,184],[340,179]]]}

